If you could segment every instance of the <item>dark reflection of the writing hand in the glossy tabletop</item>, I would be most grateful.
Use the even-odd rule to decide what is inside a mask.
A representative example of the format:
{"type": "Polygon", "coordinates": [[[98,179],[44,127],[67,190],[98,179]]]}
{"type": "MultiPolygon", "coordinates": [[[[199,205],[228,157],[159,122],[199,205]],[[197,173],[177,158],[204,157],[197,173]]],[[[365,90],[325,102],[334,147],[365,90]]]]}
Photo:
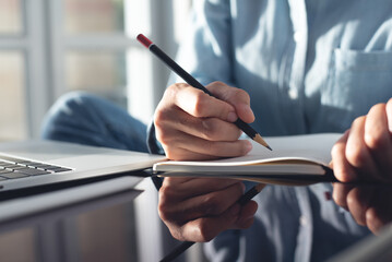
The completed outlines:
{"type": "Polygon", "coordinates": [[[237,203],[243,189],[230,179],[165,178],[158,213],[176,239],[210,241],[223,230],[253,223],[257,203],[237,203]]]}

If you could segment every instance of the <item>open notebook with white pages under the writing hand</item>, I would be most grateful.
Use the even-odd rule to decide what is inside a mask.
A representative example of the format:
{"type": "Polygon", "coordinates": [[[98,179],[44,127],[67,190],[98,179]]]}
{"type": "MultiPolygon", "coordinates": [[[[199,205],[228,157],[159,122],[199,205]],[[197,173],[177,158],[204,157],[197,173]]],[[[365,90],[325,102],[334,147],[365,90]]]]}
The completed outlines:
{"type": "Polygon", "coordinates": [[[273,151],[253,143],[241,157],[202,162],[159,162],[154,172],[165,177],[217,177],[265,183],[306,184],[336,181],[331,148],[340,133],[265,138],[273,151]]]}

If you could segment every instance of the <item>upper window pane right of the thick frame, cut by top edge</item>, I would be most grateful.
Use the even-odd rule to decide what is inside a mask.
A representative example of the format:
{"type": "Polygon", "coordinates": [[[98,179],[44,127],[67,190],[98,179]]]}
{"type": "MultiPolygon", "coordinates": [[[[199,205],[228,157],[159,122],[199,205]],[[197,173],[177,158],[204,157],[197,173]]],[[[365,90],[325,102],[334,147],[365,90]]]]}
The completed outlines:
{"type": "Polygon", "coordinates": [[[123,32],[122,0],[63,0],[68,34],[123,32]]]}

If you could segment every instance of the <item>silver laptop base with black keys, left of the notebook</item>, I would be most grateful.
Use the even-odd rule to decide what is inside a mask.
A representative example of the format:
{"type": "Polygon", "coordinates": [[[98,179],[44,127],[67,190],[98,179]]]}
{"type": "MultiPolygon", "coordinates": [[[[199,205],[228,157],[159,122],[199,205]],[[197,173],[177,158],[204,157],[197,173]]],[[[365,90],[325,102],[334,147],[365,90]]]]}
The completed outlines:
{"type": "Polygon", "coordinates": [[[1,143],[0,193],[136,171],[162,159],[165,157],[55,141],[1,143]]]}

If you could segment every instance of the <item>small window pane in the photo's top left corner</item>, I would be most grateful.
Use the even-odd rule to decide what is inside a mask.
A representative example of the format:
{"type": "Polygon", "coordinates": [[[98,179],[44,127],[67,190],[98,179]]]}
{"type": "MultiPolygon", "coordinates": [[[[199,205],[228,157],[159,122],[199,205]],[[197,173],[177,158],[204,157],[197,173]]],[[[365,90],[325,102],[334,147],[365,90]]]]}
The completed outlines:
{"type": "Polygon", "coordinates": [[[21,0],[0,0],[0,34],[22,33],[21,0]]]}

